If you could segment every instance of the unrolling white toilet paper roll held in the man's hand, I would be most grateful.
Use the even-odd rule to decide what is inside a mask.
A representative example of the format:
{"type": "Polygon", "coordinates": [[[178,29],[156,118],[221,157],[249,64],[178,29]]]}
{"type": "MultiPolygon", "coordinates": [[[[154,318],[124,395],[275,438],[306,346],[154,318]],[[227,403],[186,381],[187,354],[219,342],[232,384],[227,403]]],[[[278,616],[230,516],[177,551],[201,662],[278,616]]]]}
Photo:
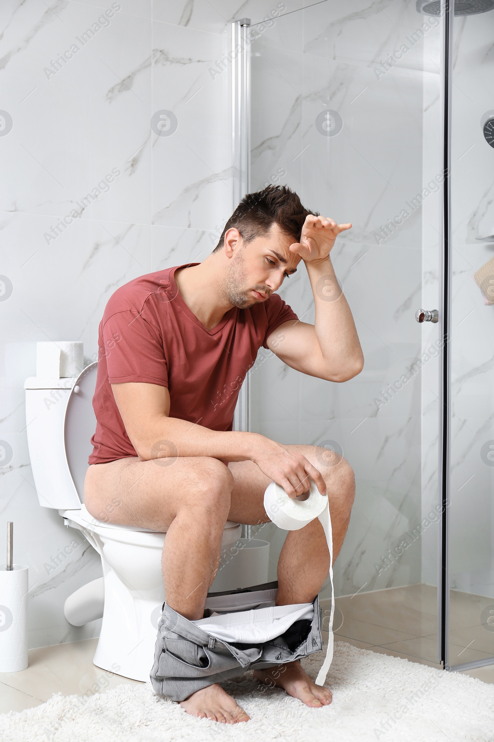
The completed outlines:
{"type": "Polygon", "coordinates": [[[314,483],[310,485],[307,500],[289,497],[283,487],[271,482],[264,492],[264,510],[270,520],[284,531],[299,531],[318,518],[326,536],[330,552],[331,613],[326,657],[316,677],[316,685],[323,686],[327,671],[333,660],[333,616],[335,612],[335,588],[333,585],[333,530],[331,528],[330,506],[326,495],[321,495],[314,483]]]}

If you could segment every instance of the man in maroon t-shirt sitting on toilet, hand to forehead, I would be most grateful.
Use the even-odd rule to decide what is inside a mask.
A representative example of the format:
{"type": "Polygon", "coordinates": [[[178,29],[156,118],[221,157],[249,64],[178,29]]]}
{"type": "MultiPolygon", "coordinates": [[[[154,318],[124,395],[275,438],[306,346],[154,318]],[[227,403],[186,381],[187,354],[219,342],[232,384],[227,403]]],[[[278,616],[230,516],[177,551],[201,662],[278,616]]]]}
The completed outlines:
{"type": "MultiPolygon", "coordinates": [[[[345,459],[232,427],[238,390],[261,346],[328,381],[361,372],[356,327],[330,260],[337,235],[350,227],[311,214],[289,188],[269,186],[241,201],[206,260],[131,280],[104,310],[84,502],[101,519],[118,497],[112,522],[167,532],[165,598],[189,620],[203,617],[225,522],[267,522],[263,497],[271,481],[296,497],[313,480],[329,497],[334,557],[341,548],[355,493],[345,459]],[[315,325],[298,320],[275,293],[301,261],[315,325]]],[[[319,520],[290,531],[278,560],[276,605],[313,601],[328,572],[319,520]]],[[[273,670],[255,675],[307,706],[331,702],[300,663],[273,670]]],[[[218,684],[181,706],[220,722],[249,719],[218,684]]]]}

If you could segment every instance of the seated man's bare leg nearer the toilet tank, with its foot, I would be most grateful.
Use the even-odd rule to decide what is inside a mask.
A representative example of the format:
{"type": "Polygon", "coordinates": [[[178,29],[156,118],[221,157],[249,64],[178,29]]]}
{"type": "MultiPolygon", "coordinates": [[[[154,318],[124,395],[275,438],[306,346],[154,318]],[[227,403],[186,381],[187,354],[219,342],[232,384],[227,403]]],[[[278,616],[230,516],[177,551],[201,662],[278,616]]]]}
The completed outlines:
{"type": "MultiPolygon", "coordinates": [[[[93,464],[84,482],[84,503],[100,520],[167,532],[161,558],[167,605],[196,620],[204,615],[218,568],[233,476],[224,464],[208,457],[166,464],[140,462],[137,457],[93,464]]],[[[222,723],[249,720],[217,683],[181,705],[195,716],[222,723]]]]}

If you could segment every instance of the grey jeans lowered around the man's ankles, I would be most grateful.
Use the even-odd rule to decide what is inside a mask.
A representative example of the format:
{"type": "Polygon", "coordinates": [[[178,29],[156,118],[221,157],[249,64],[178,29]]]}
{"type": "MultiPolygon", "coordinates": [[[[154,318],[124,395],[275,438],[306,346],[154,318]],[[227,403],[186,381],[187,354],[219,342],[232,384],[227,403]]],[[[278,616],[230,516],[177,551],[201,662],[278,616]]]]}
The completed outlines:
{"type": "Polygon", "coordinates": [[[150,672],[154,691],[181,701],[201,688],[238,677],[247,670],[282,665],[321,651],[317,596],[313,605],[312,621],[296,621],[275,639],[261,644],[230,644],[210,636],[165,602],[150,672]]]}

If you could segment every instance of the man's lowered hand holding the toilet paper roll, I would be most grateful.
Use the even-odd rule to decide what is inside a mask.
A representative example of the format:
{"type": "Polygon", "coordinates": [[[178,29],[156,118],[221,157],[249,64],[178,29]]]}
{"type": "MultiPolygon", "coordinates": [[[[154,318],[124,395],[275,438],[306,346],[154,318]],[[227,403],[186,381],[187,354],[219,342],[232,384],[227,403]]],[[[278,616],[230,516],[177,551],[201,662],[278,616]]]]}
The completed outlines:
{"type": "Polygon", "coordinates": [[[263,474],[281,485],[289,497],[295,499],[308,492],[310,479],[316,483],[321,495],[326,494],[321,472],[305,456],[264,436],[259,438],[261,440],[254,443],[251,460],[263,474]]]}

